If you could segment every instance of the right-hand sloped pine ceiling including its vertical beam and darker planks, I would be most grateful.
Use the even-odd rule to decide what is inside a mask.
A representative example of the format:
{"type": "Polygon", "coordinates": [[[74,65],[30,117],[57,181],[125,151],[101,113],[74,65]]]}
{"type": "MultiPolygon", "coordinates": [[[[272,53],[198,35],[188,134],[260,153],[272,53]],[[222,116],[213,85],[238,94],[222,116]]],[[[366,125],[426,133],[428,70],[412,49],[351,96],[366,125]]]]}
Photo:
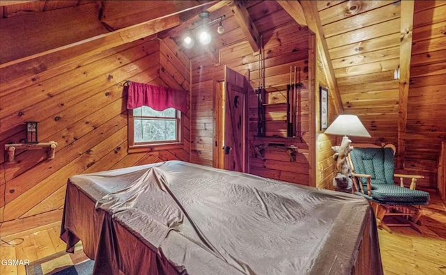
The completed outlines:
{"type": "Polygon", "coordinates": [[[446,55],[445,44],[439,45],[445,41],[446,1],[301,3],[305,15],[318,17],[312,27],[325,40],[330,88],[342,112],[359,116],[372,142],[397,145],[399,168],[436,171],[446,139],[440,111],[446,107],[446,55]]]}

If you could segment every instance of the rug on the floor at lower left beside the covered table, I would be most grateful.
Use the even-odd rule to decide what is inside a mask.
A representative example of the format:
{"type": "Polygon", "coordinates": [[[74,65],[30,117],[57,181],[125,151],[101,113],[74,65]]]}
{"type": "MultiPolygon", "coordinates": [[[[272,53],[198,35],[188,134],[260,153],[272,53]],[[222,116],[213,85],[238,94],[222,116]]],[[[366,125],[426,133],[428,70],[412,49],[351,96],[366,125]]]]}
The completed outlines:
{"type": "Polygon", "coordinates": [[[26,266],[26,275],[91,275],[94,261],[75,246],[75,253],[61,251],[26,266]]]}

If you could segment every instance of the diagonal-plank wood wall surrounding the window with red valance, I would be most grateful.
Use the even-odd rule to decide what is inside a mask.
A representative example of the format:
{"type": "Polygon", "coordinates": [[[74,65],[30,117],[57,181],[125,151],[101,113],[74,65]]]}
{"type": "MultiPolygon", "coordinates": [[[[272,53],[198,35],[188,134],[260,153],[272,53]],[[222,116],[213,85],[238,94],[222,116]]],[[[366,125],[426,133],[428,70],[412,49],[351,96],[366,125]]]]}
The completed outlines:
{"type": "Polygon", "coordinates": [[[26,120],[39,122],[39,141],[59,143],[54,160],[45,150],[17,150],[14,163],[1,154],[2,235],[60,221],[71,175],[189,161],[190,113],[183,114],[183,149],[127,152],[126,80],[190,90],[190,61],[169,43],[141,39],[70,62],[51,60],[33,75],[1,70],[1,150],[23,141],[26,120]]]}

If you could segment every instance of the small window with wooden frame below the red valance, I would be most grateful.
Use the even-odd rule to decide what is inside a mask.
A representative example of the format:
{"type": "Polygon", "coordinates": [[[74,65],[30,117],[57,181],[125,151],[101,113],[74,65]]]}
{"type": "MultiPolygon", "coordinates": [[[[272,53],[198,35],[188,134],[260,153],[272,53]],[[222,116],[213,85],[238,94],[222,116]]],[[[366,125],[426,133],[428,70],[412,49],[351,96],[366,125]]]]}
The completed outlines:
{"type": "Polygon", "coordinates": [[[171,148],[180,144],[181,112],[174,108],[156,111],[143,106],[129,110],[128,125],[129,152],[141,152],[147,147],[151,150],[171,148]]]}

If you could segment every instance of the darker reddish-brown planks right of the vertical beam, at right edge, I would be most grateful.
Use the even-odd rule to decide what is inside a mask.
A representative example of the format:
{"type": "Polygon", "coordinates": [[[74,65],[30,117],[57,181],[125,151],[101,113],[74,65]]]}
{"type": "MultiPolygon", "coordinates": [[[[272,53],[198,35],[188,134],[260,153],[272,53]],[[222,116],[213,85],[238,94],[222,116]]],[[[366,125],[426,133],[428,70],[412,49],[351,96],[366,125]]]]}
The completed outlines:
{"type": "Polygon", "coordinates": [[[414,13],[403,173],[422,174],[420,184],[436,188],[446,140],[446,2],[415,1],[414,13]]]}

